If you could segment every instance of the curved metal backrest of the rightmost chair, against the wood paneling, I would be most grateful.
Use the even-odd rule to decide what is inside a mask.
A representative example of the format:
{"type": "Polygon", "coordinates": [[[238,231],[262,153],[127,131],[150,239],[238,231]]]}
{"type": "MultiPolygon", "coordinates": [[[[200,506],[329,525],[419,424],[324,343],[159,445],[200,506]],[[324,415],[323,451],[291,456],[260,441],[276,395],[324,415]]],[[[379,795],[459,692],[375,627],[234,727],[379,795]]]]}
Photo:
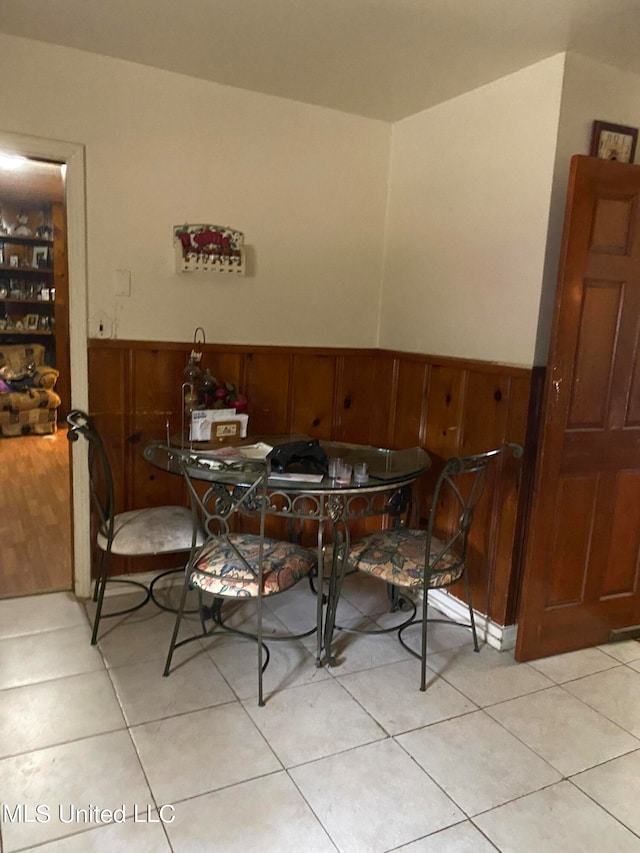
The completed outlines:
{"type": "Polygon", "coordinates": [[[500,457],[512,452],[522,456],[518,444],[504,444],[474,456],[453,456],[440,472],[429,514],[429,573],[451,571],[467,558],[469,531],[488,481],[489,470],[500,457]],[[439,525],[446,518],[444,529],[439,525]],[[439,546],[434,540],[437,538],[439,546]]]}

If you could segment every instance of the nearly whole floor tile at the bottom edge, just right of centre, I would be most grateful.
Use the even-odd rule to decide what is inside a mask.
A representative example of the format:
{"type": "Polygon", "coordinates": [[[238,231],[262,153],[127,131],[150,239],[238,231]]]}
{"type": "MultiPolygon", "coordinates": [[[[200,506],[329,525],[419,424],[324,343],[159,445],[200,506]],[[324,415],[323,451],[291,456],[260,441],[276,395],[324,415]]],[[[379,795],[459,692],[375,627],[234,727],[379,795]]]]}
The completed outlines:
{"type": "Polygon", "coordinates": [[[392,740],[296,767],[291,776],[344,853],[382,853],[464,817],[392,740]]]}

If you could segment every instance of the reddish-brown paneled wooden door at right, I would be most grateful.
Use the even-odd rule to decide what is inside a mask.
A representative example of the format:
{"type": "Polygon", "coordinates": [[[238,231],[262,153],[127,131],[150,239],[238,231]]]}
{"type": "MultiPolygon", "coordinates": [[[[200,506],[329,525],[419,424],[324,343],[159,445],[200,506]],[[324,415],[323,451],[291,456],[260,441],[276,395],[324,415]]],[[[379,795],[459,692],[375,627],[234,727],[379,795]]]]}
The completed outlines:
{"type": "Polygon", "coordinates": [[[574,157],[517,660],[640,623],[640,166],[574,157]]]}

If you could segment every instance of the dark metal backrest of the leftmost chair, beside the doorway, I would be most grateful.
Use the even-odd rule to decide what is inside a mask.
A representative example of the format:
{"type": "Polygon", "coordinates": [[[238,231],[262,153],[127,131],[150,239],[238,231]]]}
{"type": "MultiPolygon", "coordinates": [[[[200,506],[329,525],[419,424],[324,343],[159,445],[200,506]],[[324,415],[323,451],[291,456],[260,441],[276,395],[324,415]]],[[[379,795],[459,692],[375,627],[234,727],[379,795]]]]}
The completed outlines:
{"type": "MultiPolygon", "coordinates": [[[[98,533],[105,537],[108,546],[113,541],[113,519],[115,499],[113,474],[109,457],[93,418],[80,409],[74,409],[67,415],[69,441],[77,441],[80,436],[88,442],[89,493],[94,523],[97,521],[98,533]]],[[[95,541],[95,537],[93,537],[95,541]]]]}

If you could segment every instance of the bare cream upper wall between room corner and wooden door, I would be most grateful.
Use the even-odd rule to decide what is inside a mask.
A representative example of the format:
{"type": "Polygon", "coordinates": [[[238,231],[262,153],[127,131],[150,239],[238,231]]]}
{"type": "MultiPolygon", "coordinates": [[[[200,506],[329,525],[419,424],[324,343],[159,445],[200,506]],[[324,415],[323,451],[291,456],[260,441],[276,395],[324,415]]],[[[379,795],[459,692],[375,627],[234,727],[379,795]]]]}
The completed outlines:
{"type": "Polygon", "coordinates": [[[533,363],[563,68],[394,125],[381,347],[533,363]]]}

